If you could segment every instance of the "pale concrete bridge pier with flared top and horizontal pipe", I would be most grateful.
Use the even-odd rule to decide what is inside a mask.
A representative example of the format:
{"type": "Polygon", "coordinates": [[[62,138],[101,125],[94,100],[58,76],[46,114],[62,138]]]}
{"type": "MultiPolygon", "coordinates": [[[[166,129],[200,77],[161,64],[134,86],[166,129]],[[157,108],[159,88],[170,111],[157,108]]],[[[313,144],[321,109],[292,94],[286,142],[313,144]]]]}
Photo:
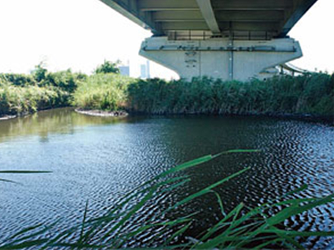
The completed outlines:
{"type": "Polygon", "coordinates": [[[223,80],[247,81],[278,73],[276,66],[302,56],[299,43],[292,38],[271,40],[169,40],[149,37],[139,54],[191,79],[210,76],[223,80]]]}

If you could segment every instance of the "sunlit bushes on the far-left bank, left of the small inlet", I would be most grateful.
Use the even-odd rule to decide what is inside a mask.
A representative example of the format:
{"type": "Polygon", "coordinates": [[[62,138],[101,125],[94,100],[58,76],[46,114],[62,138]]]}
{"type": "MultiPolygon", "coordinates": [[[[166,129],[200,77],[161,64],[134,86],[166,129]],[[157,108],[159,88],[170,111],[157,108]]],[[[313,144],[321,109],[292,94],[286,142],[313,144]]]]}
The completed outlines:
{"type": "Polygon", "coordinates": [[[42,68],[31,75],[0,74],[0,117],[70,106],[78,82],[86,78],[71,71],[52,73],[42,68]]]}

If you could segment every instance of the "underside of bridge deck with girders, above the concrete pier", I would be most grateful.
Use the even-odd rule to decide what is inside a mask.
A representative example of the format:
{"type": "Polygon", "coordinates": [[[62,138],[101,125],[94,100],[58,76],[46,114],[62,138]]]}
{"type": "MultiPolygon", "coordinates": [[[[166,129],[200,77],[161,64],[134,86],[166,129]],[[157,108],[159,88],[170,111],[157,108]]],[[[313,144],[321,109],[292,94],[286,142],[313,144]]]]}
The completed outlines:
{"type": "Polygon", "coordinates": [[[316,0],[101,0],[171,39],[284,37],[316,0]]]}

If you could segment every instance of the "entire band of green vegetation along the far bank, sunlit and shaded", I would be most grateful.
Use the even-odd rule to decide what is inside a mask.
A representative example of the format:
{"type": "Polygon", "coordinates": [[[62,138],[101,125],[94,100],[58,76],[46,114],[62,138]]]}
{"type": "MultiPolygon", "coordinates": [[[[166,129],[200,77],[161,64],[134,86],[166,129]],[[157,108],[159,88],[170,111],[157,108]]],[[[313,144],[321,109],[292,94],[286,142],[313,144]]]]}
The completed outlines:
{"type": "Polygon", "coordinates": [[[48,72],[0,74],[0,116],[75,106],[148,114],[314,115],[333,117],[334,75],[308,73],[266,81],[134,79],[105,61],[90,76],[48,72]]]}

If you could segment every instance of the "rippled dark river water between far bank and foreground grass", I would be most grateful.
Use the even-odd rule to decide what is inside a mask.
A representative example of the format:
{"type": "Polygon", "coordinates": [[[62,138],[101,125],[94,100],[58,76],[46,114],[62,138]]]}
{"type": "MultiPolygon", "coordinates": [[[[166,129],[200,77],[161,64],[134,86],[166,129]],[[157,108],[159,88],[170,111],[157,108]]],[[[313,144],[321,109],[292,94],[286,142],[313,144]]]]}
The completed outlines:
{"type": "MultiPolygon", "coordinates": [[[[50,170],[44,175],[0,178],[0,240],[22,227],[59,218],[58,232],[103,213],[127,191],[184,161],[227,149],[257,148],[260,153],[220,157],[189,169],[192,180],[173,199],[199,190],[250,166],[217,191],[226,210],[240,202],[255,206],[303,184],[296,197],[334,192],[334,128],[328,125],[255,117],[129,117],[123,120],[79,115],[71,109],[40,112],[0,122],[0,169],[50,170]],[[64,218],[66,218],[64,220],[64,218]]],[[[141,210],[140,223],[159,210],[141,210]]],[[[170,197],[169,197],[170,198],[170,197]]],[[[217,219],[214,196],[195,201],[202,209],[197,230],[217,219]]],[[[334,204],[285,222],[294,230],[334,230],[334,204]]],[[[196,231],[196,229],[194,229],[196,231]]],[[[309,238],[306,246],[324,248],[330,240],[309,238]]]]}

